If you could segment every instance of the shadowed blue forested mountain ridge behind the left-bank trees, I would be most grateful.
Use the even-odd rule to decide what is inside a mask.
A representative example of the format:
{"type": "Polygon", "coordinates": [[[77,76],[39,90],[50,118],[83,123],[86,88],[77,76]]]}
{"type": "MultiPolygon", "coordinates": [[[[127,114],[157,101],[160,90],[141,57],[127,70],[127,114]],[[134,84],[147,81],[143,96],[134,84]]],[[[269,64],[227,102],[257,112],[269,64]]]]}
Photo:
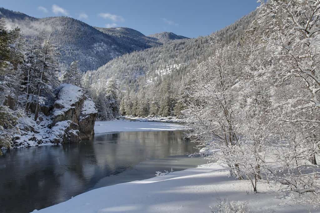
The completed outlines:
{"type": "Polygon", "coordinates": [[[21,12],[0,8],[9,28],[19,27],[26,37],[51,33],[61,53],[61,70],[79,60],[82,71],[95,70],[108,61],[133,51],[161,46],[165,41],[143,35],[130,28],[92,27],[70,17],[35,18],[21,12]]]}

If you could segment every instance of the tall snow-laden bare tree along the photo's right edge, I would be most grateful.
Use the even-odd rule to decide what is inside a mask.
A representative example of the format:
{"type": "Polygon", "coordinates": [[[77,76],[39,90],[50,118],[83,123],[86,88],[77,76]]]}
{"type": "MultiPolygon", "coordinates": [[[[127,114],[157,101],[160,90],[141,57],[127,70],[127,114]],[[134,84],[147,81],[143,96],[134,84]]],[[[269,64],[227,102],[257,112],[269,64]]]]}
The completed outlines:
{"type": "Polygon", "coordinates": [[[271,53],[266,70],[276,79],[275,110],[281,112],[278,133],[283,141],[276,153],[283,174],[272,175],[295,195],[312,193],[312,198],[299,200],[317,205],[320,1],[262,1],[258,18],[271,53]]]}

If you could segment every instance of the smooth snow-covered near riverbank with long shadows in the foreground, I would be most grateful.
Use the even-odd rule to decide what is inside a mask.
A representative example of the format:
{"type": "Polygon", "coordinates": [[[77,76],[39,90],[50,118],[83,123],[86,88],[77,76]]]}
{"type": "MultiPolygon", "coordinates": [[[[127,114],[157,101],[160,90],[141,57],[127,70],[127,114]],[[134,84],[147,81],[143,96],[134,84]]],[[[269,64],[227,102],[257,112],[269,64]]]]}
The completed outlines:
{"type": "MultiPolygon", "coordinates": [[[[310,207],[295,205],[285,194],[272,192],[260,184],[254,194],[247,181],[229,177],[229,172],[213,163],[172,172],[141,181],[106,186],[80,194],[63,203],[42,209],[42,213],[155,213],[206,212],[227,201],[246,201],[250,212],[309,212],[310,207]]],[[[310,212],[319,212],[311,209],[310,212]]]]}

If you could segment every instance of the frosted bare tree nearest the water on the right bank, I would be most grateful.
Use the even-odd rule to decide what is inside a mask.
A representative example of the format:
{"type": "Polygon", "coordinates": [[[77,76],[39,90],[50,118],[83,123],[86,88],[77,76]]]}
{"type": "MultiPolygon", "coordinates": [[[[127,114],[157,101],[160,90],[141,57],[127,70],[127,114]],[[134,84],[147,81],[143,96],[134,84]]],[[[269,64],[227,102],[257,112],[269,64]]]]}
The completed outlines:
{"type": "Polygon", "coordinates": [[[242,148],[239,144],[240,124],[233,102],[237,94],[232,90],[239,74],[232,66],[231,53],[228,49],[217,48],[214,56],[200,64],[192,74],[194,91],[186,116],[190,122],[195,122],[196,131],[190,137],[201,145],[220,149],[220,154],[212,155],[212,159],[226,163],[232,174],[244,179],[240,163],[234,159],[242,148]]]}

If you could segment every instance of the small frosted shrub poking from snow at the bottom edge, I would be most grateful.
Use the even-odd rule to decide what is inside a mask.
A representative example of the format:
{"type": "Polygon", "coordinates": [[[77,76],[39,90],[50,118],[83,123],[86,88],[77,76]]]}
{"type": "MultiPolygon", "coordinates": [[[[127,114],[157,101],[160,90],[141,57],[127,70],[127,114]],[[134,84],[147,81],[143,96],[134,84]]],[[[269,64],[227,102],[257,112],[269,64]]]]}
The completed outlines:
{"type": "Polygon", "coordinates": [[[220,201],[216,205],[218,210],[212,210],[212,213],[249,213],[248,203],[244,201],[220,201]]]}

